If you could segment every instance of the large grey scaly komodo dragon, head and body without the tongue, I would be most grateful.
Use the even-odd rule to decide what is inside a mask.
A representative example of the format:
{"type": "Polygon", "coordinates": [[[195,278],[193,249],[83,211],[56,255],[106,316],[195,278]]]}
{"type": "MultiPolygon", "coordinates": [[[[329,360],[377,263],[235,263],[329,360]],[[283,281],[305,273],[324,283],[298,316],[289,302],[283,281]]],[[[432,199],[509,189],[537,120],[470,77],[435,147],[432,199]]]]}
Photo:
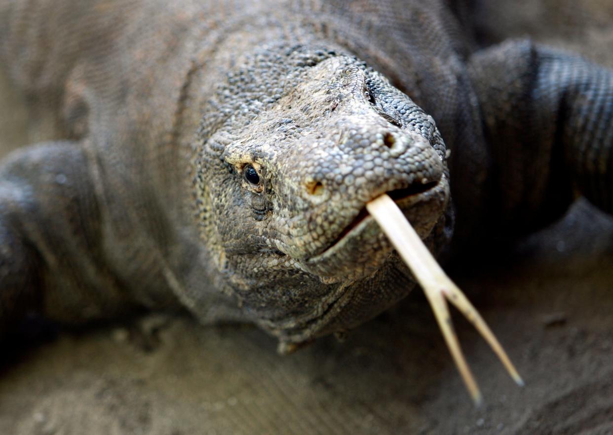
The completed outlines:
{"type": "Polygon", "coordinates": [[[578,194],[613,212],[613,71],[479,50],[463,8],[4,1],[2,64],[63,139],[0,169],[1,328],[183,306],[291,349],[414,287],[365,209],[383,193],[435,253],[578,194]]]}

